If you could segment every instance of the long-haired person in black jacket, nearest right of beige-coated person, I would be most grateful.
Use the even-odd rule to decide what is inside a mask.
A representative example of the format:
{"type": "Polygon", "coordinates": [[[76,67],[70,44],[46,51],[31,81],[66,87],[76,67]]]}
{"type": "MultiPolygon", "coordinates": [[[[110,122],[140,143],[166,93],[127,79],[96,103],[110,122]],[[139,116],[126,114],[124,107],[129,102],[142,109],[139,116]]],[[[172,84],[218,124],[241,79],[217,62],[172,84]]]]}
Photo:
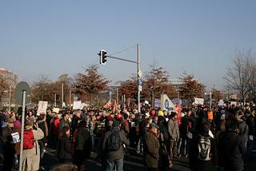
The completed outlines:
{"type": "Polygon", "coordinates": [[[72,161],[71,143],[69,140],[70,128],[64,126],[58,139],[58,161],[60,163],[72,161]]]}

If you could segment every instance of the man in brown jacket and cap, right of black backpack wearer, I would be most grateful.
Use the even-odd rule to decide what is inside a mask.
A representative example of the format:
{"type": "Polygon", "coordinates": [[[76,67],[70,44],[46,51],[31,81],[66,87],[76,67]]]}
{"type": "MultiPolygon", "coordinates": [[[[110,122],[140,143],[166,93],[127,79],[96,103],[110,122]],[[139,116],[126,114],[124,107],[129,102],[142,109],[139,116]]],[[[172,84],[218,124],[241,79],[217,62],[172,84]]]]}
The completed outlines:
{"type": "Polygon", "coordinates": [[[155,123],[150,124],[150,127],[146,133],[145,142],[145,161],[148,171],[158,171],[159,162],[159,148],[160,143],[158,141],[158,125],[155,123]]]}

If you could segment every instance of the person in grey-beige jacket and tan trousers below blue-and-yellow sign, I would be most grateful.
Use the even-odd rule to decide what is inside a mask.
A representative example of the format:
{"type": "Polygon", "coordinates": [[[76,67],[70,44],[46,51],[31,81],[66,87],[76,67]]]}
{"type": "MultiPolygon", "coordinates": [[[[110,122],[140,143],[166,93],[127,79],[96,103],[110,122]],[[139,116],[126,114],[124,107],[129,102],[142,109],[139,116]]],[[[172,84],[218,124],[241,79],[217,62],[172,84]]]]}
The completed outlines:
{"type": "Polygon", "coordinates": [[[178,158],[178,139],[179,129],[177,113],[170,113],[170,120],[168,121],[168,132],[170,134],[170,157],[178,158]]]}

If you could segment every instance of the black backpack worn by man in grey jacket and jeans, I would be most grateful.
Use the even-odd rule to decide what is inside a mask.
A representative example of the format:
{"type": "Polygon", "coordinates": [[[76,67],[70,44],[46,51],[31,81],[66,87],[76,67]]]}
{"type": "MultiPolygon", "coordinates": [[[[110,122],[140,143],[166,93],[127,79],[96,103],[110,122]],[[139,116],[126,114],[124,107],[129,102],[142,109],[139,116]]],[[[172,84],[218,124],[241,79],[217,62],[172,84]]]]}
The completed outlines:
{"type": "Polygon", "coordinates": [[[108,151],[117,151],[121,147],[121,137],[118,131],[110,131],[110,136],[106,140],[108,151]]]}

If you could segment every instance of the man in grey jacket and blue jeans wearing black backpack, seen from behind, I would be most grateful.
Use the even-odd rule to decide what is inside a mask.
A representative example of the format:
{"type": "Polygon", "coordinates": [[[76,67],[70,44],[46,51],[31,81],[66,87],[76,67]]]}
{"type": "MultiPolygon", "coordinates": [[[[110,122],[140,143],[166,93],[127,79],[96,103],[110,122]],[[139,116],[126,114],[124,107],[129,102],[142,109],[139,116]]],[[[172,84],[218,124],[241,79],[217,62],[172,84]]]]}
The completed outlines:
{"type": "Polygon", "coordinates": [[[116,165],[117,171],[122,171],[123,167],[123,159],[124,159],[124,146],[130,145],[130,141],[127,139],[126,134],[123,130],[120,130],[121,127],[121,121],[118,121],[116,119],[113,120],[112,129],[110,131],[105,133],[103,142],[102,142],[102,148],[106,152],[106,171],[112,171],[114,170],[114,166],[116,165]],[[118,132],[120,136],[120,148],[118,150],[110,151],[108,148],[107,141],[111,135],[112,132],[118,132]]]}

